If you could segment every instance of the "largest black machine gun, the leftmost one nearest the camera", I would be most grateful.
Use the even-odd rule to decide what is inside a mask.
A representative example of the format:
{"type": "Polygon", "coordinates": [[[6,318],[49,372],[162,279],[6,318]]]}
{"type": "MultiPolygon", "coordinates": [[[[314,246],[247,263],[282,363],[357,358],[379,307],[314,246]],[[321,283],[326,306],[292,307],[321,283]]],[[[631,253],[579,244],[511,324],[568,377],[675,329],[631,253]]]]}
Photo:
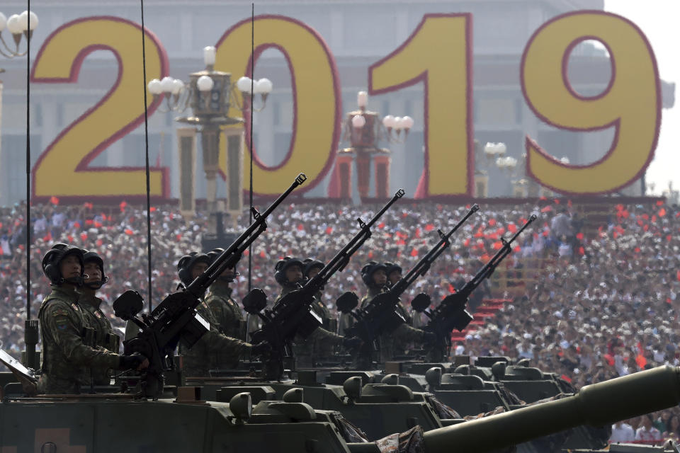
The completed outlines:
{"type": "Polygon", "coordinates": [[[149,367],[142,374],[142,397],[157,398],[162,392],[163,372],[174,369],[172,357],[179,340],[191,348],[210,329],[210,324],[196,312],[205,290],[226,268],[236,265],[246,248],[267,229],[268,215],[305,180],[307,176],[300,173],[295,182],[262,214],[251,207],[254,221],[248,229],[204,273],[185,289],[169,294],[151,314],[142,314],[142,319],[137,318],[144,302],[136,291],[126,291],[113,302],[115,316],[132,321],[140,328],[137,336],[126,340],[123,345],[125,354],[139,352],[149,359],[149,367]]]}

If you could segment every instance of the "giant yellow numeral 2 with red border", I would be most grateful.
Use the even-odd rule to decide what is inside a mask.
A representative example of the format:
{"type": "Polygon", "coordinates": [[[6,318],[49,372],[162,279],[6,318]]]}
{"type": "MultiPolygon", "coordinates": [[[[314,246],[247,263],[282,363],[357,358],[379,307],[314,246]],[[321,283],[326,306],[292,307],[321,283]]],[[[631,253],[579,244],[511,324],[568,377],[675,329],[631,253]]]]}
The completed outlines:
{"type": "MultiPolygon", "coordinates": [[[[35,58],[31,81],[75,83],[81,63],[95,50],[109,50],[118,59],[118,78],[101,101],[72,122],[42,153],[33,168],[33,194],[72,200],[91,197],[135,197],[146,193],[143,168],[93,168],[89,163],[110,144],[144,120],[140,25],[117,17],[83,18],[50,35],[35,58]]],[[[168,59],[157,38],[146,30],[147,79],[168,72],[168,59]]],[[[149,96],[149,113],[159,101],[149,96]]],[[[143,152],[140,150],[140,152],[143,152]]],[[[150,175],[151,195],[167,197],[166,171],[150,175]]]]}

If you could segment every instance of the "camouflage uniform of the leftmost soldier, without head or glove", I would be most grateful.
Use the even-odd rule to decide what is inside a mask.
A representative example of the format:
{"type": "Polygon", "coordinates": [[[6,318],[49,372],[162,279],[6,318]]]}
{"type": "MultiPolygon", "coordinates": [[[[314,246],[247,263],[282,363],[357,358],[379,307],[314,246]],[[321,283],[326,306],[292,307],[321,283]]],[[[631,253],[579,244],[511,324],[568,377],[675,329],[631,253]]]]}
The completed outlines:
{"type": "Polygon", "coordinates": [[[86,345],[88,326],[78,298],[74,289],[55,287],[40,306],[42,376],[38,391],[42,394],[77,394],[82,386],[89,386],[91,374],[118,368],[117,354],[86,345]]]}

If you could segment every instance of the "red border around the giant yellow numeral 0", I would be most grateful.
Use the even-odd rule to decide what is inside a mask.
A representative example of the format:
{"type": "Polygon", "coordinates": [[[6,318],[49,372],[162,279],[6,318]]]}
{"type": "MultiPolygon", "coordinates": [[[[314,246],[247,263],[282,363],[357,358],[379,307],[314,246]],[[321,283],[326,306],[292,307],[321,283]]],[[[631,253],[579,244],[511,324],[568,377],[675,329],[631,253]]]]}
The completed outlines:
{"type": "MultiPolygon", "coordinates": [[[[333,91],[335,95],[335,126],[333,130],[333,137],[331,138],[331,143],[329,147],[329,154],[328,154],[328,159],[326,159],[326,164],[324,164],[324,167],[322,170],[319,172],[318,176],[314,178],[313,180],[307,181],[305,185],[301,186],[300,188],[297,188],[295,192],[298,194],[300,193],[305,193],[307,190],[311,190],[312,188],[316,187],[319,183],[324,180],[324,178],[327,176],[329,170],[331,169],[331,166],[333,165],[334,162],[334,156],[335,156],[335,151],[338,148],[338,143],[340,141],[340,118],[341,118],[341,109],[340,109],[340,104],[341,104],[341,90],[340,90],[340,75],[338,71],[338,67],[335,62],[335,58],[333,57],[333,54],[331,53],[330,48],[328,47],[328,44],[324,38],[322,38],[321,35],[317,32],[317,30],[314,30],[314,28],[310,27],[310,25],[307,25],[306,23],[302,23],[300,21],[297,21],[297,19],[290,18],[288,16],[280,16],[278,14],[263,14],[261,16],[255,16],[255,21],[258,21],[260,19],[279,19],[283,21],[288,21],[295,23],[297,25],[302,26],[302,28],[305,28],[307,31],[310,32],[314,38],[319,41],[319,44],[321,44],[322,49],[326,53],[328,57],[328,62],[329,66],[331,67],[331,76],[333,77],[333,91]]],[[[222,37],[217,40],[217,44],[215,44],[215,47],[218,48],[222,44],[222,41],[224,41],[227,36],[232,33],[234,30],[239,28],[241,25],[244,23],[249,23],[251,22],[251,18],[246,18],[243,19],[242,21],[239,21],[238,23],[232,25],[229,27],[227,31],[222,35],[222,37]]],[[[293,143],[295,143],[295,137],[297,135],[297,87],[296,87],[296,82],[295,82],[295,68],[293,67],[293,64],[290,62],[290,58],[288,57],[288,52],[285,51],[283,46],[280,44],[276,44],[275,42],[265,42],[261,45],[258,45],[255,48],[254,55],[251,55],[250,58],[248,59],[248,62],[246,64],[246,71],[245,75],[252,77],[251,74],[251,61],[253,57],[255,58],[255,62],[257,62],[257,59],[259,56],[264,52],[265,50],[275,48],[279,52],[283,54],[283,57],[285,58],[286,64],[288,64],[288,69],[290,71],[290,86],[293,91],[293,134],[290,137],[290,144],[288,145],[288,152],[285,154],[285,157],[283,158],[283,161],[281,161],[279,164],[276,164],[276,166],[266,166],[259,157],[257,156],[257,150],[254,149],[252,144],[250,143],[250,113],[246,112],[244,115],[244,129],[245,129],[245,141],[246,141],[246,146],[251,149],[251,152],[253,154],[253,161],[256,166],[259,166],[264,171],[273,171],[276,170],[277,168],[283,167],[289,160],[290,156],[293,154],[293,143]]],[[[222,175],[223,178],[226,178],[226,175],[220,169],[220,175],[222,175]]],[[[244,189],[244,193],[248,193],[247,190],[244,189]]],[[[262,197],[269,197],[271,195],[263,195],[257,192],[254,192],[254,195],[259,195],[262,197]]]]}

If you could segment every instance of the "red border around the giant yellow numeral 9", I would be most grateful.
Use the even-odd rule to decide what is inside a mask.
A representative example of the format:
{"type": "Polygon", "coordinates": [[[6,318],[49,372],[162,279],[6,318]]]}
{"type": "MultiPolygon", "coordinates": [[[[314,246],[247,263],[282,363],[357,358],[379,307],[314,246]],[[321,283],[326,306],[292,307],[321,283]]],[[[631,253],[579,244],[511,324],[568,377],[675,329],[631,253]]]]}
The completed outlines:
{"type": "MultiPolygon", "coordinates": [[[[568,45],[567,48],[565,49],[565,54],[562,57],[562,81],[565,83],[565,87],[567,88],[567,91],[570,91],[570,93],[572,93],[572,95],[574,95],[575,98],[585,99],[587,101],[599,99],[599,98],[605,96],[606,93],[608,93],[611,90],[611,87],[613,86],[615,79],[616,79],[616,62],[614,60],[614,53],[611,51],[611,47],[609,47],[609,45],[606,42],[604,42],[604,40],[601,37],[594,36],[594,35],[584,35],[584,36],[581,36],[579,38],[574,39],[570,43],[570,45],[568,45]],[[572,49],[574,48],[574,46],[577,45],[582,40],[598,40],[598,41],[602,42],[607,47],[607,50],[609,52],[609,60],[611,62],[611,68],[612,68],[611,79],[609,81],[609,84],[608,84],[606,90],[603,93],[601,93],[600,95],[594,96],[594,97],[591,97],[591,98],[584,98],[584,96],[581,96],[578,93],[576,93],[573,90],[571,84],[569,83],[569,77],[567,76],[567,74],[565,72],[567,70],[567,66],[565,64],[565,61],[568,61],[568,58],[569,58],[570,53],[571,53],[572,49]]],[[[526,134],[525,139],[524,139],[524,148],[526,149],[526,173],[527,173],[528,176],[531,176],[531,178],[536,180],[538,183],[544,185],[545,187],[550,188],[552,190],[555,190],[555,192],[557,192],[557,193],[563,193],[565,195],[597,195],[597,194],[604,194],[604,193],[613,193],[613,192],[616,192],[617,190],[619,190],[621,188],[627,187],[628,185],[633,183],[633,181],[640,178],[640,176],[642,176],[642,174],[645,173],[645,170],[647,169],[647,167],[652,162],[652,159],[654,159],[655,149],[657,149],[657,144],[659,142],[659,130],[661,129],[661,116],[662,116],[662,98],[661,98],[662,93],[661,93],[661,79],[659,79],[659,67],[657,66],[657,59],[654,55],[654,50],[652,50],[652,46],[650,45],[649,40],[647,40],[647,36],[645,36],[645,33],[643,33],[642,30],[640,30],[640,27],[638,27],[638,25],[635,25],[635,23],[629,21],[627,18],[625,18],[623,16],[619,16],[618,14],[609,13],[607,11],[598,11],[598,10],[571,11],[569,13],[560,14],[560,16],[555,16],[554,18],[551,18],[550,21],[544,23],[543,25],[540,25],[540,27],[538,27],[536,29],[536,31],[533,32],[533,34],[531,35],[531,38],[529,38],[528,42],[526,43],[526,46],[524,47],[524,51],[522,52],[522,59],[521,59],[521,63],[520,63],[520,84],[521,84],[521,88],[522,88],[522,95],[524,96],[524,99],[525,99],[527,105],[529,106],[529,108],[531,108],[531,111],[533,111],[533,113],[534,113],[534,115],[536,115],[536,117],[538,117],[540,120],[542,120],[543,122],[545,122],[548,125],[558,127],[559,129],[562,129],[562,130],[571,130],[571,131],[575,131],[575,132],[584,132],[584,131],[592,131],[592,130],[605,130],[605,129],[608,129],[610,127],[616,127],[616,130],[614,132],[614,138],[613,138],[611,145],[610,145],[608,151],[606,152],[606,154],[604,156],[602,156],[601,159],[598,159],[597,161],[595,161],[591,164],[587,164],[587,165],[562,164],[562,162],[558,161],[555,158],[555,156],[553,156],[552,154],[548,154],[548,152],[546,152],[545,149],[538,146],[538,143],[536,142],[536,140],[532,139],[531,137],[529,137],[528,134],[526,134]],[[533,171],[530,170],[531,153],[529,152],[529,149],[530,149],[531,146],[535,147],[536,151],[538,151],[540,154],[542,154],[546,159],[553,161],[553,163],[557,164],[558,166],[563,166],[565,168],[589,168],[589,167],[592,167],[592,166],[599,165],[602,162],[606,161],[606,159],[609,158],[609,156],[611,155],[613,150],[616,149],[616,145],[618,144],[619,126],[620,126],[621,120],[619,120],[619,119],[613,120],[612,122],[608,123],[607,125],[604,125],[604,126],[601,126],[601,127],[588,127],[586,129],[578,129],[578,128],[575,128],[575,127],[562,127],[560,125],[556,125],[554,122],[550,121],[547,117],[545,117],[544,115],[539,113],[538,110],[536,110],[533,107],[533,104],[531,103],[531,101],[529,100],[529,98],[526,94],[526,88],[525,88],[525,84],[524,84],[524,64],[526,62],[526,52],[527,52],[528,48],[531,47],[533,40],[536,38],[538,33],[540,33],[540,31],[543,30],[543,28],[547,27],[551,23],[553,23],[555,21],[559,21],[560,19],[565,18],[567,16],[575,16],[577,14],[578,15],[581,15],[581,14],[601,14],[603,16],[612,16],[614,18],[622,19],[623,21],[629,23],[635,30],[637,30],[638,34],[640,35],[640,38],[642,38],[642,42],[645,43],[645,45],[647,46],[647,49],[650,51],[650,57],[652,59],[652,67],[654,69],[654,74],[655,74],[655,83],[657,85],[656,134],[655,134],[654,140],[652,141],[652,148],[651,148],[651,151],[649,153],[649,156],[647,157],[647,161],[645,162],[645,165],[643,165],[642,168],[640,168],[640,171],[638,171],[638,173],[635,174],[635,176],[633,176],[633,178],[630,178],[630,180],[628,180],[624,184],[618,185],[615,188],[612,188],[610,190],[606,190],[604,192],[581,193],[581,192],[565,192],[563,190],[558,190],[557,188],[553,187],[549,183],[545,183],[545,181],[541,181],[538,178],[536,178],[536,175],[533,173],[533,171]]]]}

